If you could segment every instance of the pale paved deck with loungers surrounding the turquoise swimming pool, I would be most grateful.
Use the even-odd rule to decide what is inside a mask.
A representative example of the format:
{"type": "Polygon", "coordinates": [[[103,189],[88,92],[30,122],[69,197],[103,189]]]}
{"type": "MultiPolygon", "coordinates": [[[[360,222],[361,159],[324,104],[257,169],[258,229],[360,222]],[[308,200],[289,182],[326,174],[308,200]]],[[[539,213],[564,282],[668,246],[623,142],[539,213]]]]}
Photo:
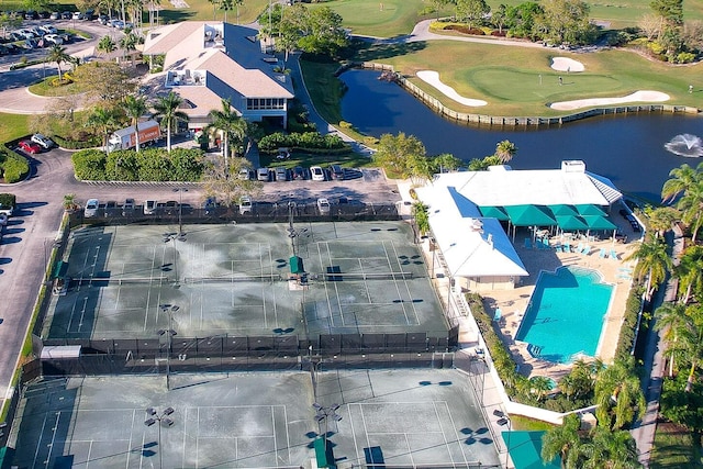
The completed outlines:
{"type": "MultiPolygon", "coordinates": [[[[615,216],[614,216],[615,219],[615,216]]],[[[523,314],[527,309],[527,303],[535,289],[535,283],[542,270],[554,271],[562,266],[578,266],[596,270],[601,273],[603,281],[613,284],[613,298],[605,316],[605,327],[601,332],[600,343],[598,346],[598,356],[604,362],[611,362],[615,356],[617,347],[617,338],[625,312],[625,303],[629,294],[632,284],[631,276],[632,263],[624,260],[631,252],[633,239],[638,239],[638,234],[632,228],[621,224],[621,231],[627,234],[628,242],[613,243],[612,239],[591,241],[591,252],[588,255],[579,253],[562,253],[556,249],[529,249],[524,246],[524,238],[529,236],[529,232],[518,230],[515,236],[514,246],[523,260],[525,268],[529,272],[529,277],[523,277],[522,282],[513,290],[493,290],[482,292],[486,300],[487,311],[490,315],[495,309],[500,308],[502,317],[500,320],[500,331],[503,342],[507,345],[513,354],[513,358],[520,365],[521,373],[533,376],[547,376],[558,380],[571,369],[570,365],[557,364],[542,360],[533,357],[527,351],[527,344],[515,340],[515,334],[520,327],[523,314]],[[610,254],[611,249],[617,253],[617,259],[601,257],[601,249],[605,249],[610,254]]],[[[561,242],[559,236],[550,239],[551,245],[561,242]]],[[[571,241],[571,248],[579,246],[579,243],[587,244],[579,239],[571,241]]]]}

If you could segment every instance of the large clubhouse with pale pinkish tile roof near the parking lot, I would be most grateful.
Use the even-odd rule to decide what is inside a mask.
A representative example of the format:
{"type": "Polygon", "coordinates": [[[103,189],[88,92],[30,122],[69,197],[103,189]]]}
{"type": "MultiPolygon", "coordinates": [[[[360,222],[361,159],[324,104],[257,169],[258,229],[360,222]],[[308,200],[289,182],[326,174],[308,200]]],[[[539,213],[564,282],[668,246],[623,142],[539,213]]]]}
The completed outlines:
{"type": "Polygon", "coordinates": [[[179,94],[190,129],[210,123],[208,113],[228,99],[244,119],[286,126],[294,97],[278,59],[265,54],[250,27],[217,21],[186,21],[149,31],[144,55],[164,55],[164,87],[179,94]]]}

